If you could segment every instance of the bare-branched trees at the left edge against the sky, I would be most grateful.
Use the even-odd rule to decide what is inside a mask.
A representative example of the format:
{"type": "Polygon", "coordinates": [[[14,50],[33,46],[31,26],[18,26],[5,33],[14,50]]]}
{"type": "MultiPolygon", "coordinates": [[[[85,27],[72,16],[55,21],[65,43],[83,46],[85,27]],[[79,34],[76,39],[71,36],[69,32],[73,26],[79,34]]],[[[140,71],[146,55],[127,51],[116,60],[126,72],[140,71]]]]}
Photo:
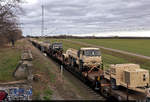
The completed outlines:
{"type": "Polygon", "coordinates": [[[21,0],[0,0],[0,46],[22,37],[17,14],[21,0]]]}

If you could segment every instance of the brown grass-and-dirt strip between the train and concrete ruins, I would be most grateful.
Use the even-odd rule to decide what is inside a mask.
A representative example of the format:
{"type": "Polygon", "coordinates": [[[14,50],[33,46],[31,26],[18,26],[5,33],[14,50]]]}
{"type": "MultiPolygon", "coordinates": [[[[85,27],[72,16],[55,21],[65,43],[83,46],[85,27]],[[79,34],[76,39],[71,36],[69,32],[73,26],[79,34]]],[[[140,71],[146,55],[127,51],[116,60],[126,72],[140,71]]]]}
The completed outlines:
{"type": "Polygon", "coordinates": [[[87,90],[87,87],[69,72],[64,71],[63,80],[60,76],[59,66],[48,57],[44,56],[37,48],[25,40],[33,54],[33,73],[41,75],[41,80],[33,82],[34,99],[42,99],[43,91],[49,87],[52,90],[52,100],[104,100],[87,90]],[[39,62],[38,62],[39,61],[39,62]],[[37,65],[36,65],[37,64],[37,65]],[[46,66],[47,65],[47,66],[46,66]],[[49,76],[53,79],[49,79],[49,76]],[[45,81],[46,80],[46,81],[45,81]]]}

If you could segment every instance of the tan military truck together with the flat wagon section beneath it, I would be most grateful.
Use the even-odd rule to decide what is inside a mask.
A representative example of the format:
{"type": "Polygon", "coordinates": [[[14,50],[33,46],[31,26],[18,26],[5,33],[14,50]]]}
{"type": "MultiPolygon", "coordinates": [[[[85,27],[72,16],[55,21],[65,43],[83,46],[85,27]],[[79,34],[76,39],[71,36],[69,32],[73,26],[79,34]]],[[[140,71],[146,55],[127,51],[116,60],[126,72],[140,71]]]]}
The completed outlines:
{"type": "Polygon", "coordinates": [[[99,48],[80,48],[68,49],[64,54],[65,64],[69,65],[77,73],[81,73],[82,76],[94,85],[96,78],[101,74],[102,58],[99,48]]]}

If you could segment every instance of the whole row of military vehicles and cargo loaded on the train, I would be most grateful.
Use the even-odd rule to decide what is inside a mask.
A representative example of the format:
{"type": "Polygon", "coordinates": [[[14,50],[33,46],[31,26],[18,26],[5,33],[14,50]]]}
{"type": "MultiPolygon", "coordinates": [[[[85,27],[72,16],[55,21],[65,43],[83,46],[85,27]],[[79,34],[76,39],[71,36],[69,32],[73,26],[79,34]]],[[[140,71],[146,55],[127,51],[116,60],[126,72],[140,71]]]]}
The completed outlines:
{"type": "MultiPolygon", "coordinates": [[[[35,40],[31,42],[38,45],[36,47],[39,44],[44,46],[35,40]]],[[[120,101],[150,98],[149,71],[141,69],[138,64],[111,64],[104,70],[99,48],[69,48],[63,53],[59,43],[50,44],[46,53],[84,82],[90,82],[86,84],[106,98],[113,96],[120,101]]]]}

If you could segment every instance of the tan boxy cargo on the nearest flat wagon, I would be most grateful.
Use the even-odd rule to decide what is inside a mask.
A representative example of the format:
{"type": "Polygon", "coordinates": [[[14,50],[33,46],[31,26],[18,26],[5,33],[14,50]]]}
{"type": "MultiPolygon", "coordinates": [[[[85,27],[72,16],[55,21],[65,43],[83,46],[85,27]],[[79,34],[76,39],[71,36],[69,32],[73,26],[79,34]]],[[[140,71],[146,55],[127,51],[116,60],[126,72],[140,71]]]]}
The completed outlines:
{"type": "Polygon", "coordinates": [[[117,86],[128,86],[130,88],[144,87],[149,84],[149,71],[141,69],[138,64],[112,64],[109,71],[104,73],[104,77],[116,80],[117,86]]]}

